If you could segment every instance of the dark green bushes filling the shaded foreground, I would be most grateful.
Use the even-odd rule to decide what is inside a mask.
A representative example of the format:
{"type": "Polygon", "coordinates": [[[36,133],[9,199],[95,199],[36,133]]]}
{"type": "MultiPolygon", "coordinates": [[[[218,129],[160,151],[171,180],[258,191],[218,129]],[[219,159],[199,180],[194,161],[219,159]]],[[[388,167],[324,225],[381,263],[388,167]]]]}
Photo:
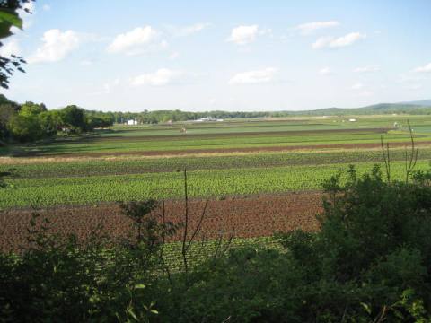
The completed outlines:
{"type": "MultiPolygon", "coordinates": [[[[179,230],[123,205],[136,234],[80,243],[41,230],[0,256],[5,321],[428,322],[429,173],[383,180],[351,168],[324,183],[321,231],[277,234],[281,248],[231,249],[171,272],[164,238],[179,230]],[[346,184],[341,184],[341,182],[346,184]]],[[[159,219],[160,220],[160,219],[159,219]]]]}

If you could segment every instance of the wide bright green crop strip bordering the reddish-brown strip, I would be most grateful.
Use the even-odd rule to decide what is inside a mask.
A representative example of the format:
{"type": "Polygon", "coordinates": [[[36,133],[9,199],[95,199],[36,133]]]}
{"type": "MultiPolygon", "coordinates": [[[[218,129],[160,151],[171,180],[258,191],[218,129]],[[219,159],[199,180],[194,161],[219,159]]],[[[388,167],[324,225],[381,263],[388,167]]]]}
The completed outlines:
{"type": "MultiPolygon", "coordinates": [[[[372,166],[371,162],[358,163],[357,170],[365,172],[372,166]]],[[[189,196],[217,197],[319,189],[321,181],[328,179],[339,167],[346,169],[347,165],[193,170],[189,171],[189,196]]],[[[427,168],[428,162],[418,162],[417,169],[427,168]]],[[[403,178],[404,163],[393,162],[391,171],[394,179],[403,178]]],[[[0,207],[177,198],[183,195],[183,184],[181,172],[14,179],[14,188],[4,190],[0,196],[0,207]]]]}

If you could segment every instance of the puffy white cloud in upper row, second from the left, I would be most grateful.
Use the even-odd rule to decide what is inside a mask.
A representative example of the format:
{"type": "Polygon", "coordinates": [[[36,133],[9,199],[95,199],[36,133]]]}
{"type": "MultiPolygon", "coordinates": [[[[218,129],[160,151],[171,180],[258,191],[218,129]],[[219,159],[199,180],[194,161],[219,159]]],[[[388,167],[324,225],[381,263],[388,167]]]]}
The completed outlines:
{"type": "Polygon", "coordinates": [[[124,52],[136,55],[155,48],[165,48],[168,43],[160,40],[160,32],[151,26],[138,27],[133,31],[119,34],[108,47],[111,53],[124,52]]]}

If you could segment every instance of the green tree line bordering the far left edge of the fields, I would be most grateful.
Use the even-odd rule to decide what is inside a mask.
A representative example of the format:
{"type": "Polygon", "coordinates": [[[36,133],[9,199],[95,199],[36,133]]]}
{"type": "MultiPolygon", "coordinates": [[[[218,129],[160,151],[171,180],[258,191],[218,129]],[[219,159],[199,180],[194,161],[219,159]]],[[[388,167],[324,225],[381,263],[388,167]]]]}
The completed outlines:
{"type": "Polygon", "coordinates": [[[0,94],[0,140],[5,143],[25,143],[52,137],[58,133],[81,134],[96,128],[106,128],[135,120],[138,124],[159,124],[197,120],[198,118],[262,118],[268,112],[187,112],[155,110],[142,112],[102,112],[86,110],[76,105],[48,110],[43,103],[17,103],[0,94]]]}

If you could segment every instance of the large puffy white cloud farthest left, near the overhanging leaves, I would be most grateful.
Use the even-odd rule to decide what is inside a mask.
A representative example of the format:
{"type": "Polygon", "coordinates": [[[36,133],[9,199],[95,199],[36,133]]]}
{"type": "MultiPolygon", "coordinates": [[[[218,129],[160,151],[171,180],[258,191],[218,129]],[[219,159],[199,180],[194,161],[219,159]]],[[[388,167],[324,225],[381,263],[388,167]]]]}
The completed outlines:
{"type": "Polygon", "coordinates": [[[29,63],[57,62],[79,47],[80,39],[75,31],[57,29],[45,31],[43,45],[29,58],[29,63]]]}

